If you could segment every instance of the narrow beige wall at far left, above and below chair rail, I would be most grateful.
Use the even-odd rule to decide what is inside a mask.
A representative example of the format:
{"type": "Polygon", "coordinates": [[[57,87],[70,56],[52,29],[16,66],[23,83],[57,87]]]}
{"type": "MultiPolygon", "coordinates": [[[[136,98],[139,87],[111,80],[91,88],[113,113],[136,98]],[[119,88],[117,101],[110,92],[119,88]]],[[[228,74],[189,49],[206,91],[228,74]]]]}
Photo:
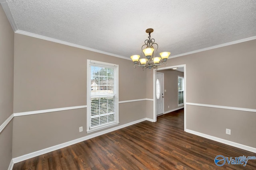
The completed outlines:
{"type": "MultiPolygon", "coordinates": [[[[14,32],[0,6],[0,125],[13,113],[14,32]]],[[[12,121],[0,133],[0,169],[12,159],[12,121]]]]}

